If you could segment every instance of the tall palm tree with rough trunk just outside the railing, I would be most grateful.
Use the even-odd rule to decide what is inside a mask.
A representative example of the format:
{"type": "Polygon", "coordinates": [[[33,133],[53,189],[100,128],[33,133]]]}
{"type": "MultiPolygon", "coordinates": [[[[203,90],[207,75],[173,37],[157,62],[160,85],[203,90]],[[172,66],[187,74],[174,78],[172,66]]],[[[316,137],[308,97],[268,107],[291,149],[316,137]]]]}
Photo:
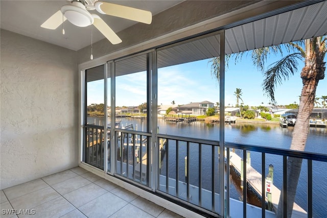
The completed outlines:
{"type": "MultiPolygon", "coordinates": [[[[314,107],[317,85],[319,80],[324,78],[325,62],[323,62],[323,59],[327,50],[326,40],[326,36],[320,36],[250,51],[253,64],[264,73],[263,90],[275,105],[277,105],[274,96],[276,85],[281,85],[283,81],[287,80],[290,76],[297,72],[298,60],[302,60],[305,63],[305,66],[302,68],[300,73],[300,77],[302,79],[302,90],[297,121],[292,135],[291,150],[304,151],[306,147],[306,141],[309,134],[308,124],[310,114],[312,113],[314,107]],[[289,54],[283,57],[281,60],[273,63],[267,70],[265,70],[265,61],[267,61],[268,55],[283,55],[282,48],[285,48],[289,54]]],[[[238,60],[242,58],[242,56],[246,53],[248,52],[235,54],[235,59],[238,60]]],[[[228,55],[228,59],[230,57],[231,55],[228,55]]],[[[211,62],[212,64],[216,64],[216,66],[212,66],[212,75],[216,75],[215,77],[218,78],[220,59],[214,59],[216,59],[216,61],[211,62]]],[[[292,215],[301,166],[302,159],[288,157],[287,217],[291,217],[292,215]]],[[[281,195],[276,217],[283,217],[282,205],[283,199],[281,195]]]]}

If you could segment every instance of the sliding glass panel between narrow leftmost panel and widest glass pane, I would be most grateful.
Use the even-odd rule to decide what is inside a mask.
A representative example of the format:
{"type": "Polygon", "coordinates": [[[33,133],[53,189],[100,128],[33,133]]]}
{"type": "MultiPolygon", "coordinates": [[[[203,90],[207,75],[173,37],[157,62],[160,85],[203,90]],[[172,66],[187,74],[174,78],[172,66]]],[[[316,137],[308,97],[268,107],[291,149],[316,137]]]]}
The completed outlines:
{"type": "Polygon", "coordinates": [[[116,176],[150,186],[151,87],[149,54],[114,62],[114,172],[116,176]]]}

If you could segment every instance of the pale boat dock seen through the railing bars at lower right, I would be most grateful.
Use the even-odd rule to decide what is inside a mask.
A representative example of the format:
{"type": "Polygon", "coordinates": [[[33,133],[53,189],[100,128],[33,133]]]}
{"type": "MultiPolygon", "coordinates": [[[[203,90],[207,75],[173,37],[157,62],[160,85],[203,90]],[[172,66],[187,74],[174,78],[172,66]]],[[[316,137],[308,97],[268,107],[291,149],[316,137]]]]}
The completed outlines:
{"type": "MultiPolygon", "coordinates": [[[[229,153],[229,163],[230,165],[236,169],[236,171],[241,175],[241,164],[242,159],[236,153],[230,151],[229,153]]],[[[226,153],[225,153],[226,157],[226,153]]],[[[256,191],[260,196],[262,196],[262,175],[256,171],[249,163],[246,163],[246,181],[247,183],[256,191]]],[[[279,197],[281,195],[281,190],[279,190],[276,186],[272,184],[272,205],[273,211],[277,211],[279,197]]],[[[267,198],[266,198],[267,202],[267,198]]],[[[293,213],[292,217],[307,217],[307,212],[302,209],[299,205],[294,203],[293,205],[293,213]]]]}

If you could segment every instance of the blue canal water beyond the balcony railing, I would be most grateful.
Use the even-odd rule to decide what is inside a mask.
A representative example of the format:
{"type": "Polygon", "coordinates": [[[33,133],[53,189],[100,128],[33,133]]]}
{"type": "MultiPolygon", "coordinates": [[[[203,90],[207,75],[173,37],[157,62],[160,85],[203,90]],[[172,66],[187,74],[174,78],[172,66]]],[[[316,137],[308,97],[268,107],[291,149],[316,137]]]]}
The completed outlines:
{"type": "MultiPolygon", "coordinates": [[[[146,119],[135,119],[135,118],[122,118],[122,125],[133,124],[135,127],[137,125],[138,130],[146,131],[146,119]]],[[[158,129],[160,134],[167,135],[177,135],[183,137],[192,137],[192,138],[203,138],[211,140],[219,140],[219,124],[207,124],[204,122],[193,122],[193,123],[171,123],[165,122],[163,119],[158,119],[158,129]]],[[[255,146],[262,147],[272,147],[272,148],[281,148],[289,149],[292,139],[293,127],[281,128],[278,125],[266,125],[266,124],[231,124],[225,125],[225,141],[241,143],[241,144],[252,144],[255,146]]],[[[135,130],[135,128],[134,128],[135,130]]],[[[174,146],[174,145],[171,145],[174,146]]],[[[211,154],[211,149],[202,148],[202,153],[205,155],[211,154]]],[[[196,160],[197,157],[196,149],[190,151],[191,159],[196,160]],[[193,156],[192,156],[193,155],[193,156]]],[[[327,129],[326,128],[310,128],[309,137],[306,144],[307,152],[314,152],[319,154],[327,154],[327,129]]],[[[170,152],[174,152],[174,149],[171,149],[170,152]]],[[[218,152],[216,150],[215,152],[218,152]]],[[[239,154],[242,154],[242,151],[237,151],[239,154]]],[[[180,147],[180,157],[181,163],[184,159],[186,152],[185,147],[180,147]]],[[[170,154],[174,155],[174,154],[170,154]]],[[[176,156],[176,155],[175,155],[176,156]]],[[[261,172],[261,153],[252,152],[251,153],[251,166],[254,167],[258,172],[261,172]]],[[[164,160],[165,162],[166,160],[164,160]]],[[[204,161],[205,162],[205,161],[204,161]]],[[[217,161],[218,162],[218,161],[217,161]]],[[[196,163],[196,161],[195,161],[196,163]]],[[[206,173],[211,174],[211,161],[208,161],[208,164],[203,164],[201,171],[202,175],[206,173]]],[[[279,189],[282,189],[282,164],[283,157],[278,155],[269,155],[266,154],[266,172],[268,172],[268,166],[272,164],[274,166],[274,185],[279,189]]],[[[184,166],[179,166],[180,172],[183,172],[184,166]]],[[[194,171],[197,171],[197,166],[194,165],[194,171]]],[[[169,162],[169,171],[174,172],[176,168],[175,162],[169,162]]],[[[313,161],[313,216],[314,217],[326,217],[327,216],[327,207],[325,203],[327,202],[327,163],[313,161]]],[[[162,171],[165,171],[165,164],[162,163],[162,171]]],[[[215,180],[218,178],[218,171],[215,172],[215,180]]],[[[174,178],[174,174],[169,174],[171,178],[174,178]]],[[[197,185],[198,179],[195,176],[191,177],[191,184],[197,185]]],[[[230,175],[230,197],[233,199],[241,200],[242,192],[239,187],[240,181],[235,174],[230,175]]],[[[183,178],[179,178],[183,180],[183,178]]],[[[211,179],[204,180],[207,181],[203,183],[203,188],[209,189],[211,187],[211,179]]],[[[217,182],[218,183],[218,182],[217,182]]],[[[217,184],[218,188],[218,184],[217,184]]],[[[259,199],[255,196],[247,197],[249,202],[256,205],[259,199]],[[257,203],[256,203],[257,202],[257,203]]],[[[297,187],[297,196],[295,202],[307,210],[307,162],[303,160],[302,169],[300,174],[300,181],[297,187]]],[[[259,203],[260,205],[260,203],[259,203]]],[[[259,206],[258,205],[258,206],[259,206]]]]}

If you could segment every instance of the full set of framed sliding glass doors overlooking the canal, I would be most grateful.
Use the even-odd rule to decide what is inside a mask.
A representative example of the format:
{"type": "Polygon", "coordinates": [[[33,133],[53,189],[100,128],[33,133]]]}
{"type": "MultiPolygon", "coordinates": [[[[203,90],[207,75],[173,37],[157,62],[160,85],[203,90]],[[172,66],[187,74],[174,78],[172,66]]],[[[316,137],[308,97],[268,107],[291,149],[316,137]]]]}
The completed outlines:
{"type": "Polygon", "coordinates": [[[222,214],[222,41],[215,32],[85,70],[85,163],[222,214]]]}

